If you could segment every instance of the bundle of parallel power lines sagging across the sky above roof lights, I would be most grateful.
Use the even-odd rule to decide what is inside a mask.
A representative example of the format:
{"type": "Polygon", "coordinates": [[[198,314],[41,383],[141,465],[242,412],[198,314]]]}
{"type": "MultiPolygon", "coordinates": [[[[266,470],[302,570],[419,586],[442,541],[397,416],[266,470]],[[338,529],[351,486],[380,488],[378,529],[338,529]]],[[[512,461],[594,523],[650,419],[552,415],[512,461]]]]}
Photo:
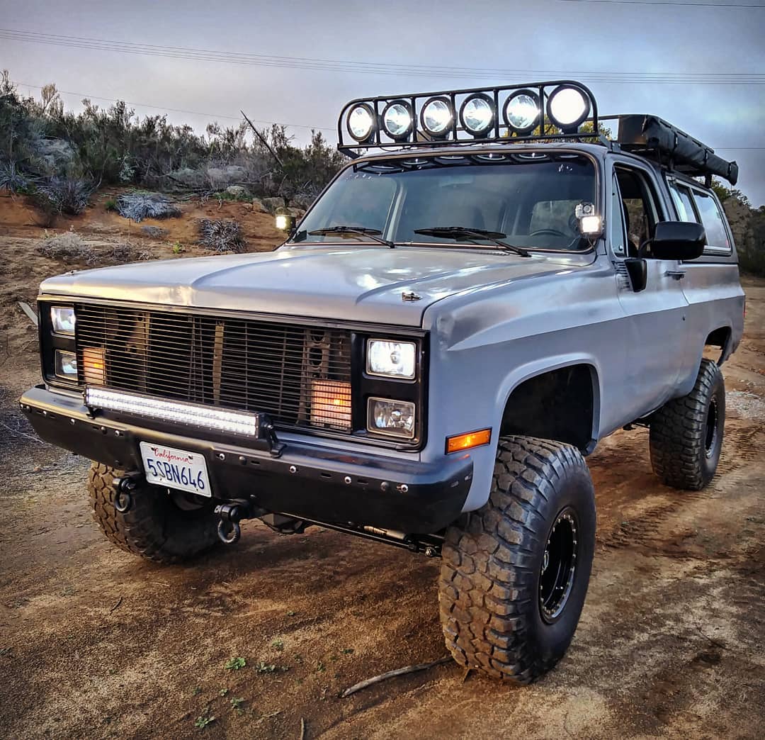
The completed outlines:
{"type": "Polygon", "coordinates": [[[466,67],[431,67],[428,65],[387,64],[379,62],[354,62],[311,57],[273,57],[262,54],[210,51],[190,47],[168,47],[136,44],[128,41],[109,41],[89,37],[44,34],[37,31],[18,31],[0,28],[0,38],[22,43],[89,49],[93,51],[116,51],[122,54],[164,57],[179,60],[219,62],[223,64],[252,65],[258,67],[282,67],[287,69],[342,71],[344,73],[386,74],[396,76],[427,76],[474,78],[479,76],[520,77],[522,75],[547,77],[578,77],[581,80],[601,83],[695,83],[695,84],[765,84],[762,73],[658,73],[658,72],[561,72],[560,70],[503,70],[466,67]]]}

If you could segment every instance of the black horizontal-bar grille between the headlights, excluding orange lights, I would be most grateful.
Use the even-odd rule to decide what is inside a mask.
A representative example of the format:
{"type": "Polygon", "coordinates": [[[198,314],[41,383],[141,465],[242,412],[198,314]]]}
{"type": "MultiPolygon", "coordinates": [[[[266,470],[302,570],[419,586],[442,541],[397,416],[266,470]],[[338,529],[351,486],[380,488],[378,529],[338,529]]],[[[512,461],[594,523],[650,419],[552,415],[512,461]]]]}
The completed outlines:
{"type": "Polygon", "coordinates": [[[321,414],[311,423],[314,381],[350,382],[347,330],[91,304],[75,311],[80,383],[83,349],[103,348],[109,388],[350,432],[350,422],[330,425],[321,414]]]}

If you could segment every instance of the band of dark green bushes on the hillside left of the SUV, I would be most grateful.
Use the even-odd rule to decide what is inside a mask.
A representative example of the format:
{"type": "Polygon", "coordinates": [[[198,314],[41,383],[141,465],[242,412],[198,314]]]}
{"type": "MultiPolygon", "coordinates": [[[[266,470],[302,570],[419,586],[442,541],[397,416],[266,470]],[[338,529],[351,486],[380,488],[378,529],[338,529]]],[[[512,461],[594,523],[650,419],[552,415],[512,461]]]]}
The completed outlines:
{"type": "Polygon", "coordinates": [[[258,196],[305,205],[343,163],[321,132],[292,144],[284,126],[248,136],[249,126],[207,126],[197,135],[167,116],[141,119],[118,101],[99,108],[64,109],[54,84],[40,99],[22,96],[8,70],[0,76],[0,188],[36,194],[41,207],[77,214],[96,187],[135,185],[198,192],[246,187],[258,196]]]}

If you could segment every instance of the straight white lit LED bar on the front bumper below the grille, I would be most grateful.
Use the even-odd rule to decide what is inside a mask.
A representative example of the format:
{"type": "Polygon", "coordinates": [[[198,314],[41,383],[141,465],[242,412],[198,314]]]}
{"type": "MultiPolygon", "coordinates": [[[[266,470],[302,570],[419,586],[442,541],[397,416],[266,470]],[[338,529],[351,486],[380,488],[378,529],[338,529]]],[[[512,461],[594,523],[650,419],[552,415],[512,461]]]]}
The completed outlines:
{"type": "Polygon", "coordinates": [[[260,432],[257,414],[214,409],[210,406],[197,406],[194,403],[181,401],[165,401],[151,396],[138,396],[135,393],[123,393],[106,388],[86,386],[85,405],[91,409],[122,411],[162,422],[200,426],[216,432],[231,432],[249,437],[257,437],[260,432]]]}

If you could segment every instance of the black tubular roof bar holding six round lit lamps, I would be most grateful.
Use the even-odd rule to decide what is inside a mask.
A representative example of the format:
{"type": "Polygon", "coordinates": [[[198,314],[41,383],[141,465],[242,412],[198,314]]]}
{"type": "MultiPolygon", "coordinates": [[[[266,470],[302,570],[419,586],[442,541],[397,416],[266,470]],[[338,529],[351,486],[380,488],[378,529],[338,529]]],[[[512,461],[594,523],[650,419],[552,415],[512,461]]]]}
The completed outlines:
{"type": "Polygon", "coordinates": [[[576,139],[588,116],[597,132],[597,103],[575,80],[356,99],[340,112],[337,148],[355,157],[373,147],[576,139]]]}

